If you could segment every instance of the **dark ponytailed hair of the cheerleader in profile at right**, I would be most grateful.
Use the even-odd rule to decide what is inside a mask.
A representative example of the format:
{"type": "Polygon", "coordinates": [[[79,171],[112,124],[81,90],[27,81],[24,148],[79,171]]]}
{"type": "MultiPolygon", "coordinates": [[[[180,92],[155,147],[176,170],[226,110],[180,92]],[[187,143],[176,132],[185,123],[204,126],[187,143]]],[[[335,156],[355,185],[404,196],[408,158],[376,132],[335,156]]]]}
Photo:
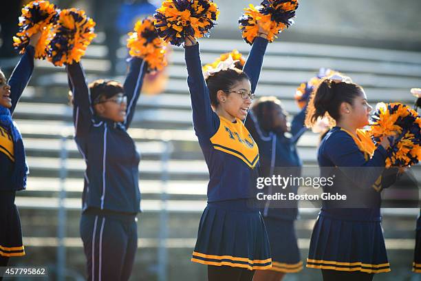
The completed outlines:
{"type": "Polygon", "coordinates": [[[334,121],[339,121],[341,114],[339,107],[341,103],[354,105],[356,96],[360,96],[363,88],[356,83],[335,82],[331,79],[324,79],[319,87],[314,90],[313,96],[307,108],[305,125],[312,127],[319,117],[328,114],[334,121]]]}

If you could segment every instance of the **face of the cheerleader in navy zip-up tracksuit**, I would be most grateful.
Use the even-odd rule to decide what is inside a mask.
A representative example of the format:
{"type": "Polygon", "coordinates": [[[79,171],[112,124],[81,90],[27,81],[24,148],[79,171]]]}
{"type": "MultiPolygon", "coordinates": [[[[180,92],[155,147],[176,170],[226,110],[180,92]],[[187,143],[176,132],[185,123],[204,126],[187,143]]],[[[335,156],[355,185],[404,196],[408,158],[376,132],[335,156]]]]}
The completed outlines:
{"type": "Polygon", "coordinates": [[[111,98],[100,98],[94,105],[96,114],[114,122],[124,122],[126,119],[127,97],[120,93],[111,98]]]}

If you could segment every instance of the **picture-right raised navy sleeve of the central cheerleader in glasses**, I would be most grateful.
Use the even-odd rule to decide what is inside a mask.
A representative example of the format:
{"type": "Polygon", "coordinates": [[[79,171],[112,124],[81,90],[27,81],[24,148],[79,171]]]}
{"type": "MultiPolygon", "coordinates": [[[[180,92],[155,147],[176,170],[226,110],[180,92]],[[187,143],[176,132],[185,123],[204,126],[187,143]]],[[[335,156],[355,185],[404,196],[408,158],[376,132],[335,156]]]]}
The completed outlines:
{"type": "Polygon", "coordinates": [[[252,93],[255,92],[257,82],[259,82],[261,66],[263,65],[263,57],[267,47],[268,39],[256,37],[250,50],[250,54],[248,54],[246,64],[243,67],[243,71],[246,72],[250,78],[252,93]]]}

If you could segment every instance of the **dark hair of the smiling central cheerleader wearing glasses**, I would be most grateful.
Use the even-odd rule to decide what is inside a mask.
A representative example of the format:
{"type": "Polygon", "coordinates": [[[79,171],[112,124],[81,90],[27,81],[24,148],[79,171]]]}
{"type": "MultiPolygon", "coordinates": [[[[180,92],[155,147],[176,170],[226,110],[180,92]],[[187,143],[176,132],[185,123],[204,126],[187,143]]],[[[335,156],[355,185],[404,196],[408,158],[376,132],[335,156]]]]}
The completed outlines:
{"type": "Polygon", "coordinates": [[[233,85],[235,85],[243,79],[247,79],[250,81],[246,72],[243,72],[242,70],[239,70],[237,68],[228,68],[228,70],[220,70],[219,72],[208,76],[208,78],[206,79],[206,85],[208,85],[209,89],[210,103],[214,107],[217,107],[217,105],[219,104],[217,92],[219,90],[230,90],[230,88],[233,87],[233,85]]]}

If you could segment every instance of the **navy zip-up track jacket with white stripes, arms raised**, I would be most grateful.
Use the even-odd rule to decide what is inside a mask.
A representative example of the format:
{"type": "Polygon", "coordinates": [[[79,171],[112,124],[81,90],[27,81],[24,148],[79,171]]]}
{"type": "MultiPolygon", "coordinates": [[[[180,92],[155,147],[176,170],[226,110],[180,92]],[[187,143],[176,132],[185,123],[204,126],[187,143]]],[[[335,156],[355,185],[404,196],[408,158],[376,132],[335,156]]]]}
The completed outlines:
{"type": "Polygon", "coordinates": [[[94,114],[85,73],[80,63],[67,65],[69,86],[74,95],[74,140],[87,165],[83,188],[83,209],[95,207],[110,211],[140,211],[140,154],[127,133],[136,110],[147,63],[132,58],[124,83],[127,114],[115,123],[94,114]]]}

